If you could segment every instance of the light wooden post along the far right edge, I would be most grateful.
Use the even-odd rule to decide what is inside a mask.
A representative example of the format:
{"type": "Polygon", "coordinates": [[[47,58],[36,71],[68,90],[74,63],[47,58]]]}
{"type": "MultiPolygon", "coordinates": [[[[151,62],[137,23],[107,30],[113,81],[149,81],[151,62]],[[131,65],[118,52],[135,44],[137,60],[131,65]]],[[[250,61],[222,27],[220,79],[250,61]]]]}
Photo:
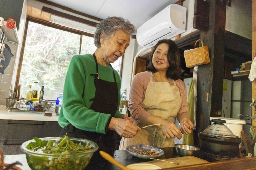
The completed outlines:
{"type": "MultiPolygon", "coordinates": [[[[253,17],[252,17],[252,58],[255,55],[256,51],[256,0],[253,0],[253,17]]],[[[254,59],[255,60],[255,59],[254,59]]],[[[252,98],[256,99],[256,81],[252,83],[252,98]]],[[[252,117],[256,112],[254,111],[254,108],[252,108],[252,117]]],[[[256,122],[254,119],[252,119],[252,125],[256,125],[256,122]]]]}

